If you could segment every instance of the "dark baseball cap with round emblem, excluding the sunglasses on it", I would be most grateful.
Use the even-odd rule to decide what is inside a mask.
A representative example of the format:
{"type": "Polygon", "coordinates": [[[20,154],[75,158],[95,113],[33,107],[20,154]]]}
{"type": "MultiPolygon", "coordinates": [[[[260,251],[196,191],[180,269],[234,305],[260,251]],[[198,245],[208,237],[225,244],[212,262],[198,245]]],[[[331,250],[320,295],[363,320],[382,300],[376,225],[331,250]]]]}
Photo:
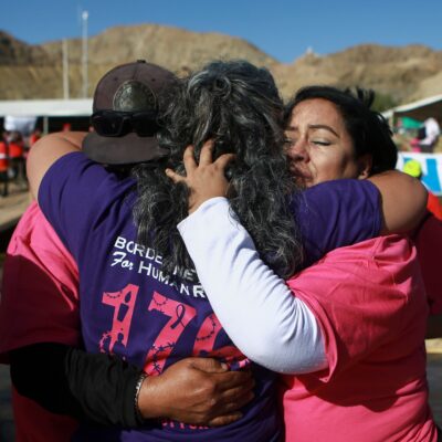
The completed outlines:
{"type": "MultiPolygon", "coordinates": [[[[146,113],[156,119],[159,94],[176,82],[177,77],[170,71],[144,60],[122,64],[99,80],[93,113],[146,113]]],[[[155,134],[139,136],[135,131],[112,137],[92,131],[83,140],[83,151],[94,161],[107,165],[151,161],[169,154],[159,147],[155,134]]]]}

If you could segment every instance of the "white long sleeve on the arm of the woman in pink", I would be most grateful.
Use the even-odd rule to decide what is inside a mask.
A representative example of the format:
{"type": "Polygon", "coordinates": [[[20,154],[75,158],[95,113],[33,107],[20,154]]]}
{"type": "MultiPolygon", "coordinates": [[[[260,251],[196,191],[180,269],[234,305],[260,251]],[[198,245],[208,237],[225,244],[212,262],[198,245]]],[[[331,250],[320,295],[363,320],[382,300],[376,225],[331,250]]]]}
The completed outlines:
{"type": "Polygon", "coordinates": [[[179,231],[217,316],[245,356],[277,372],[326,367],[316,318],[262,262],[225,199],[207,201],[179,231]]]}

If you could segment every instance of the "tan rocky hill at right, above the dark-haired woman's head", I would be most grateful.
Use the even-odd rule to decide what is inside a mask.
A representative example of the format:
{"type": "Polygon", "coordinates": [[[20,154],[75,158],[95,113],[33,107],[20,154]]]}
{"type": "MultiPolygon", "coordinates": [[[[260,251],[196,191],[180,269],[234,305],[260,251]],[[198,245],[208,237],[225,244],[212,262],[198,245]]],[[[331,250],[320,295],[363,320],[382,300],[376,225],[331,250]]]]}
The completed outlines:
{"type": "Polygon", "coordinates": [[[442,72],[442,51],[423,45],[404,48],[364,44],[327,56],[306,54],[292,65],[278,65],[274,74],[283,90],[295,91],[305,83],[340,87],[371,87],[396,102],[422,98],[442,92],[430,80],[442,72]],[[427,91],[422,85],[427,82],[427,91]],[[431,90],[430,84],[434,85],[431,90]]]}

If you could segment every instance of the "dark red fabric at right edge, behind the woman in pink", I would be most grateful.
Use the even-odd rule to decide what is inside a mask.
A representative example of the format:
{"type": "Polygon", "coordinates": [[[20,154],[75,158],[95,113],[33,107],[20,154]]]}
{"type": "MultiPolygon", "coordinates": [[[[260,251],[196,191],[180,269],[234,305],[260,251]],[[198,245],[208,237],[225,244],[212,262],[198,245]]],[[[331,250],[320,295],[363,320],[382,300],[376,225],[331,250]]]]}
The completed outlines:
{"type": "Polygon", "coordinates": [[[442,221],[429,215],[414,236],[431,315],[442,314],[442,221]]]}

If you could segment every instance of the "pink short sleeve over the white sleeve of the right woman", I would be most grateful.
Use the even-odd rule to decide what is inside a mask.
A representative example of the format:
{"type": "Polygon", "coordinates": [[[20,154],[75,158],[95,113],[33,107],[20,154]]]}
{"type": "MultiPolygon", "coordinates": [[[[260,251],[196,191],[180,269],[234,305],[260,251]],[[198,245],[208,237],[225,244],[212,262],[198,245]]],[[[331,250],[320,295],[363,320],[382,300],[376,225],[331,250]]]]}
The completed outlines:
{"type": "Polygon", "coordinates": [[[418,265],[410,242],[391,235],[337,249],[287,282],[322,328],[329,362],[322,381],[397,339],[411,287],[419,292],[418,265]]]}

